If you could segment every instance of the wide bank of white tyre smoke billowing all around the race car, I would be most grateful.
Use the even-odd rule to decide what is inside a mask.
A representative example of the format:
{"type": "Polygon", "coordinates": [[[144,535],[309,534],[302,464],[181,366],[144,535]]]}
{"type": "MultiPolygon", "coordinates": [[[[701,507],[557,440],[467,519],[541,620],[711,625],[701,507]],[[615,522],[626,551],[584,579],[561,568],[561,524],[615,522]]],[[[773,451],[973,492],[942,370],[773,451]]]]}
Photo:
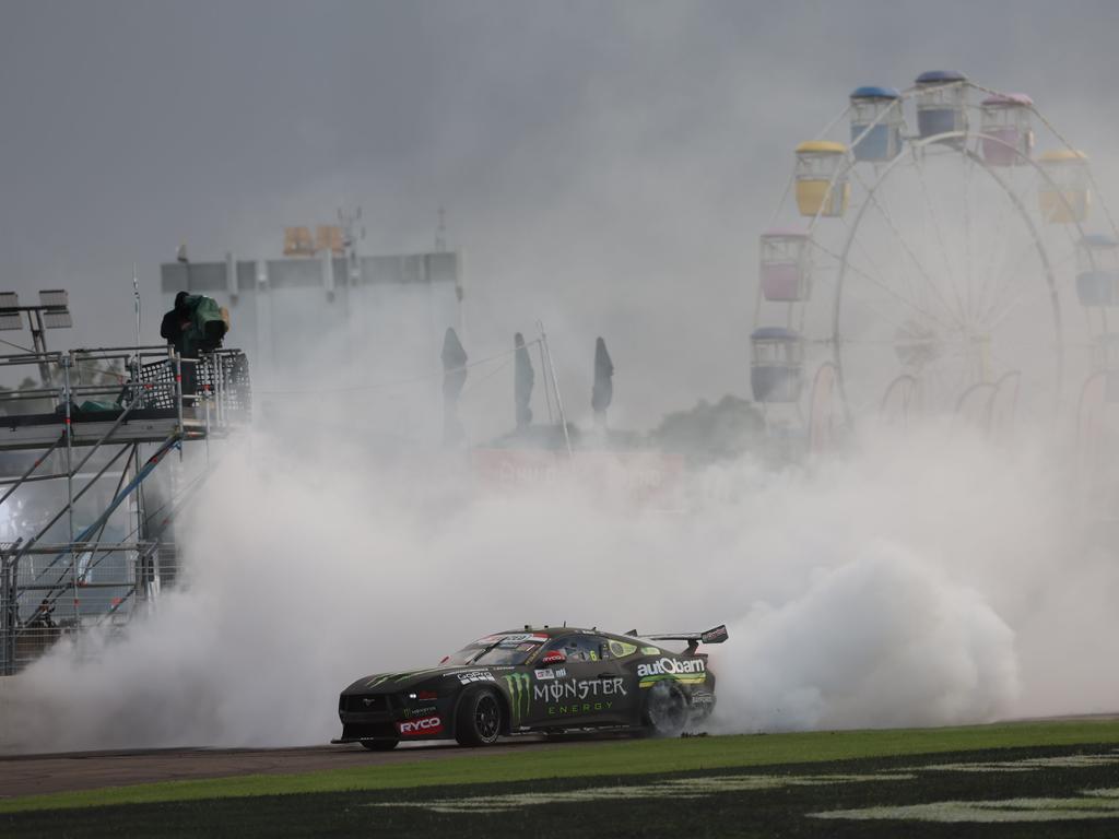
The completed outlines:
{"type": "Polygon", "coordinates": [[[321,743],[354,678],[564,620],[726,621],[720,730],[1108,707],[1119,571],[1071,550],[1028,447],[944,435],[877,433],[808,471],[740,462],[639,507],[577,479],[504,493],[458,462],[293,456],[258,435],[210,479],[182,587],[20,676],[4,745],[321,743]]]}

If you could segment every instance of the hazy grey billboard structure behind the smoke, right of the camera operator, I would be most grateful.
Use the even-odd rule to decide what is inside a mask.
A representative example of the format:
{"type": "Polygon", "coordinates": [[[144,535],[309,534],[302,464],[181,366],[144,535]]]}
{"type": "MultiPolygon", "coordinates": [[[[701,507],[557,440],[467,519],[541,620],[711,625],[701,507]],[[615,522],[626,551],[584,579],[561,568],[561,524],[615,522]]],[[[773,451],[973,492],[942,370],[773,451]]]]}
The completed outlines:
{"type": "MultiPolygon", "coordinates": [[[[308,230],[309,233],[309,230],[308,230]]],[[[298,244],[294,235],[288,245],[298,244]]],[[[329,232],[321,236],[330,242],[329,232]]],[[[455,252],[392,256],[316,256],[160,266],[164,309],[180,291],[206,294],[227,307],[227,343],[253,365],[264,411],[269,394],[294,388],[348,390],[368,402],[378,387],[416,383],[391,411],[380,431],[408,430],[439,439],[440,351],[449,327],[461,329],[462,281],[455,252]]]]}

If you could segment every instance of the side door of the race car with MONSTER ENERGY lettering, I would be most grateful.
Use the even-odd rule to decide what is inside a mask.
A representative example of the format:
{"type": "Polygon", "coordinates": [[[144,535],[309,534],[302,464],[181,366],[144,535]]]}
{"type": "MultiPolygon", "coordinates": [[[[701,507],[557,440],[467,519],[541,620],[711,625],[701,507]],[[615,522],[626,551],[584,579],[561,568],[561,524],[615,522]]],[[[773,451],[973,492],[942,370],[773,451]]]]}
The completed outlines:
{"type": "Polygon", "coordinates": [[[577,632],[554,639],[549,652],[564,661],[533,673],[533,716],[540,726],[581,727],[626,722],[632,697],[602,635],[577,632]]]}

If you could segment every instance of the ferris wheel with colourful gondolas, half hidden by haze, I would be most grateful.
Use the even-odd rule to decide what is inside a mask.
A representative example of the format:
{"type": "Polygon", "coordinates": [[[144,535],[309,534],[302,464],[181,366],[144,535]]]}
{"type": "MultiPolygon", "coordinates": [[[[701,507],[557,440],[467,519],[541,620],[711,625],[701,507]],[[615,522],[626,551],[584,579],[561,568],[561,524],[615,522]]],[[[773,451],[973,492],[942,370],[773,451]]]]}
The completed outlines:
{"type": "Polygon", "coordinates": [[[990,427],[1019,405],[1051,417],[1119,367],[1119,234],[1088,157],[1028,96],[948,70],[859,87],[794,155],[760,239],[768,416],[807,413],[814,445],[868,414],[990,427]]]}

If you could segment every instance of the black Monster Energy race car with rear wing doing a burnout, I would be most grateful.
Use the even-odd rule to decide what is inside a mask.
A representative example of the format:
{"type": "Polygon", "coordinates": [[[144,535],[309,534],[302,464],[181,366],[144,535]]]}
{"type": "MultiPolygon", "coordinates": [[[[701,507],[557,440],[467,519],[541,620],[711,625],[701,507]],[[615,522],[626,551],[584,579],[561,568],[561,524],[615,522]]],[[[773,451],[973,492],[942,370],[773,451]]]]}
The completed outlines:
{"type": "Polygon", "coordinates": [[[482,746],[501,735],[579,728],[674,736],[714,709],[715,675],[697,650],[726,637],[726,626],[647,638],[568,626],[498,632],[439,667],[355,681],[338,699],[335,743],[386,751],[402,739],[453,737],[482,746]]]}

